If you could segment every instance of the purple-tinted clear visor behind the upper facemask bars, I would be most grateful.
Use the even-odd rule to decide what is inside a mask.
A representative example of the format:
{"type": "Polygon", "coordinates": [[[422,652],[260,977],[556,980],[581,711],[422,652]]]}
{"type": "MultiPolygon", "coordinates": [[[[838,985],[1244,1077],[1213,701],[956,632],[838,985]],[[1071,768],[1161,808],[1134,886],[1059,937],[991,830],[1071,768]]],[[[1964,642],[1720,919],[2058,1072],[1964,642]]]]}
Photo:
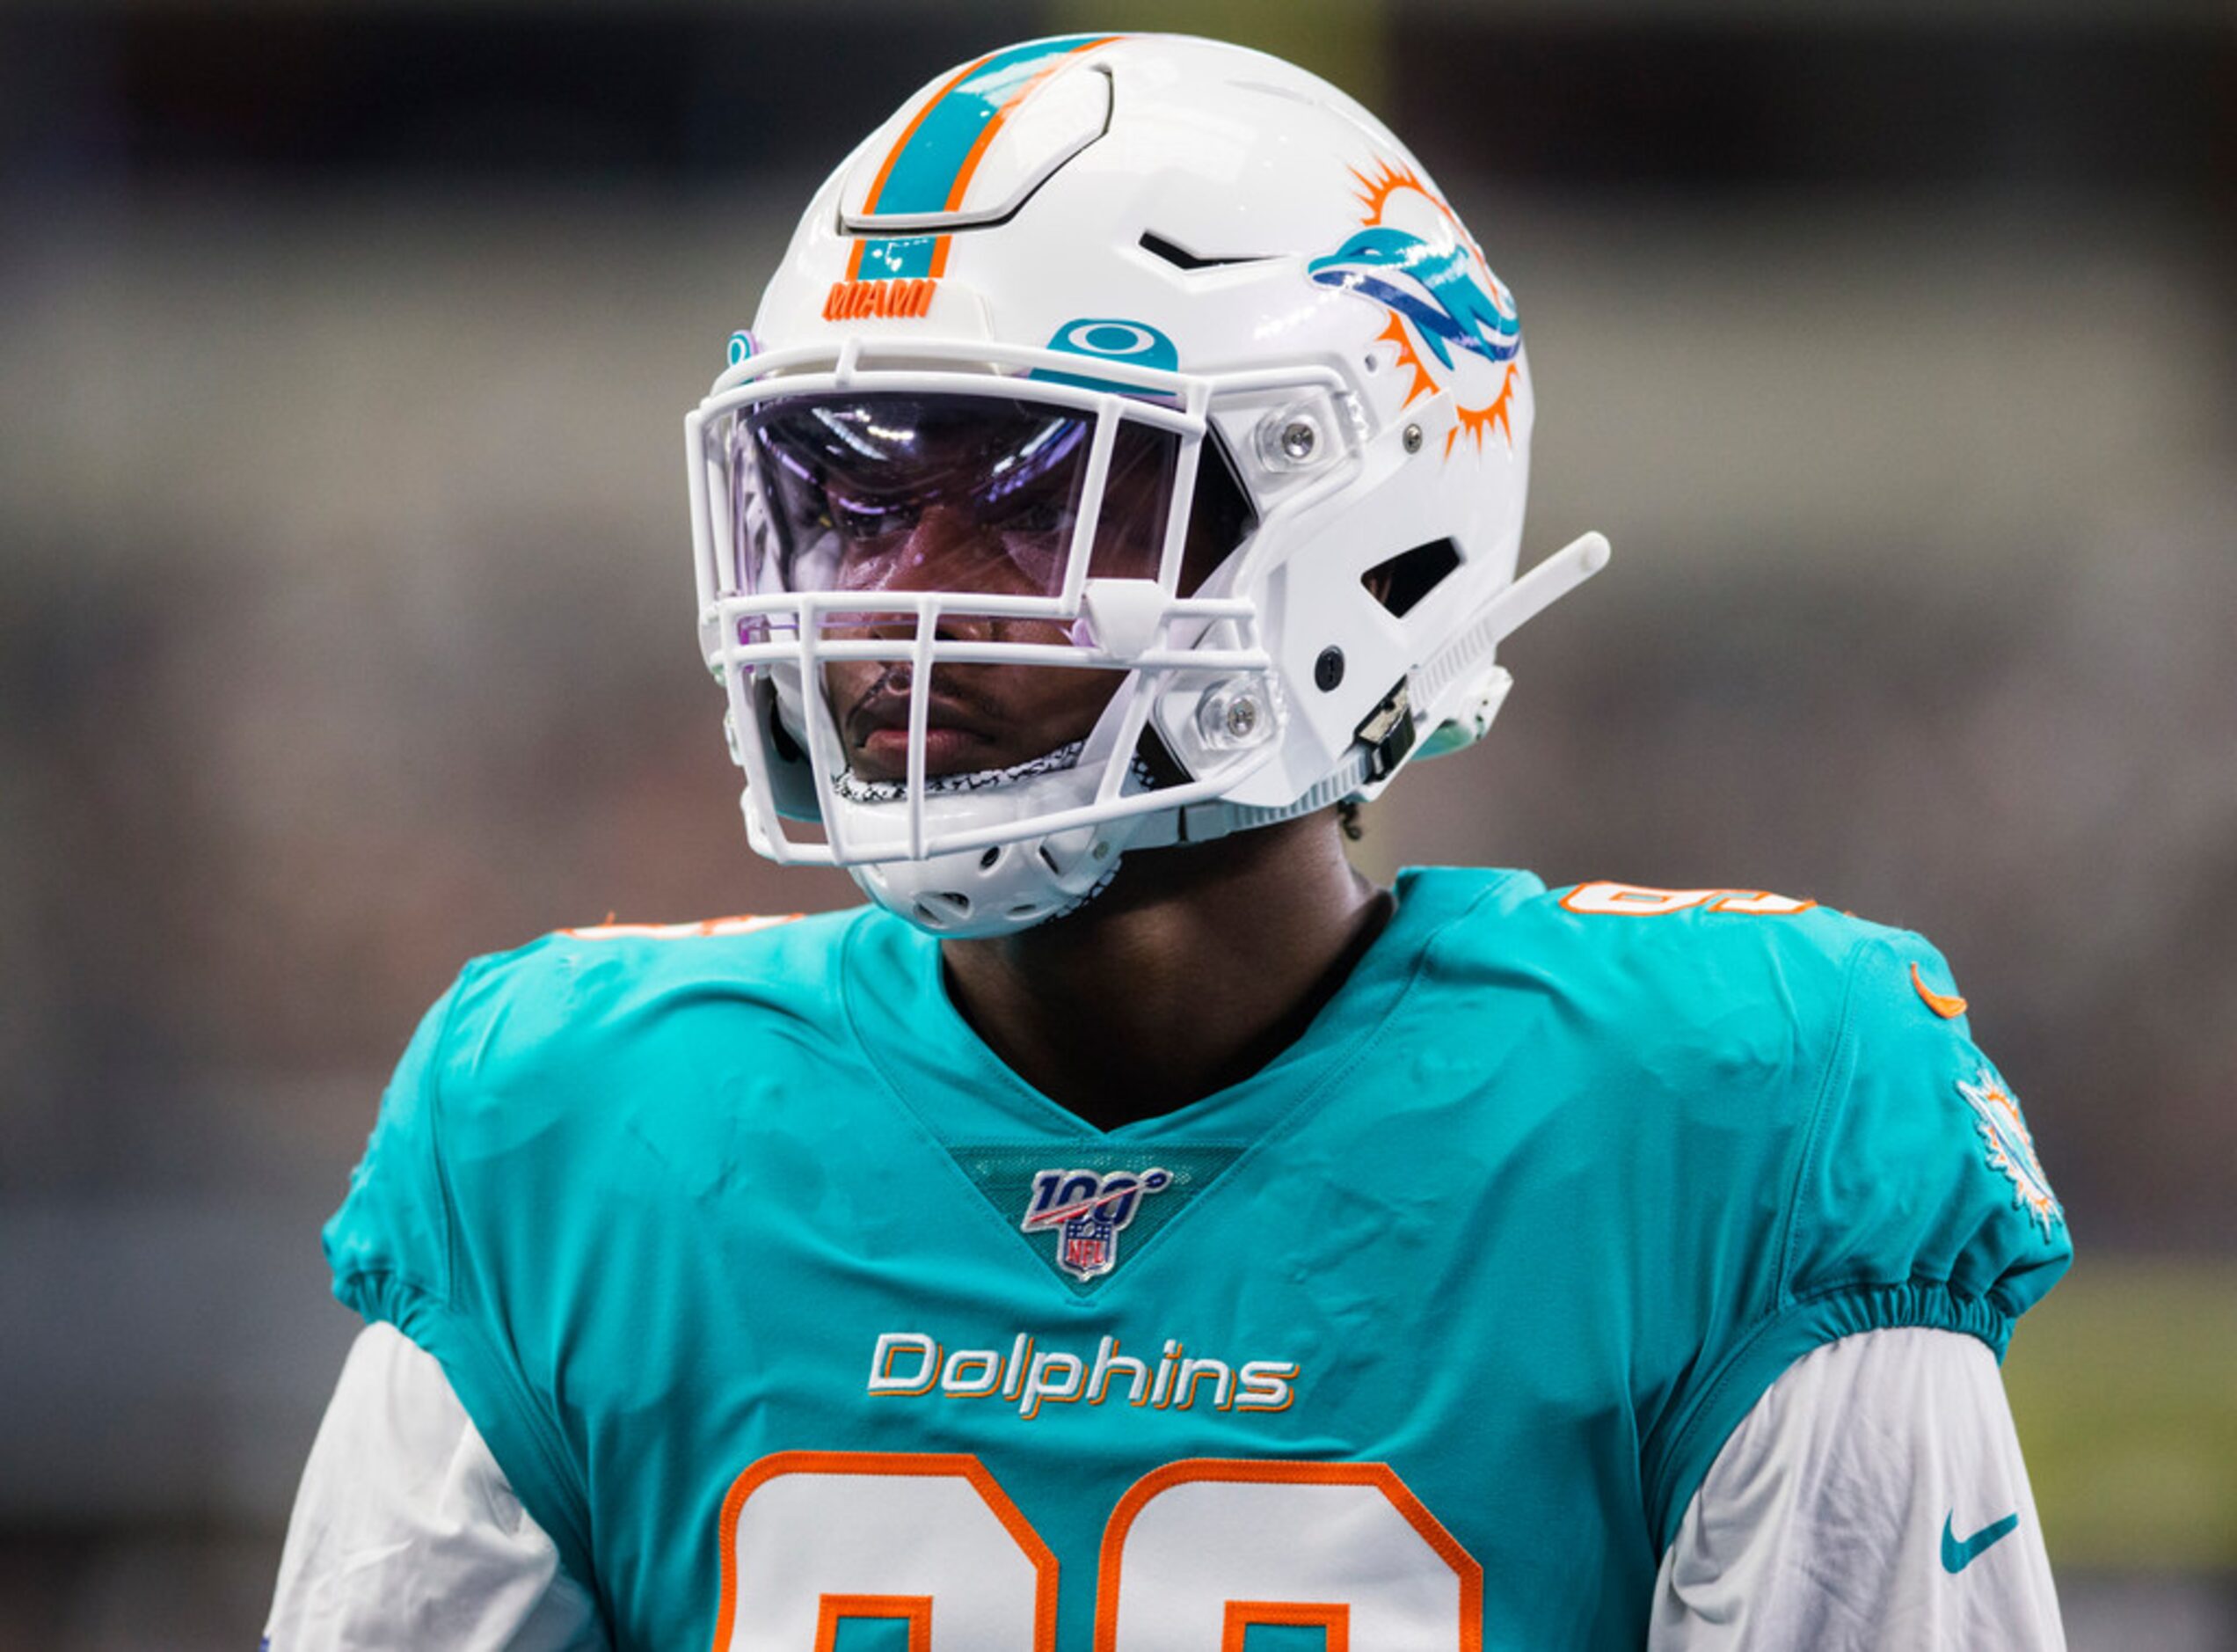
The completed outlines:
{"type": "MultiPolygon", "coordinates": [[[[1007,396],[756,403],[731,428],[729,463],[770,533],[740,544],[740,582],[756,595],[1058,595],[1094,432],[1089,412],[1007,396]]],[[[1174,432],[1118,421],[1087,578],[1157,578],[1179,452],[1174,432]]]]}

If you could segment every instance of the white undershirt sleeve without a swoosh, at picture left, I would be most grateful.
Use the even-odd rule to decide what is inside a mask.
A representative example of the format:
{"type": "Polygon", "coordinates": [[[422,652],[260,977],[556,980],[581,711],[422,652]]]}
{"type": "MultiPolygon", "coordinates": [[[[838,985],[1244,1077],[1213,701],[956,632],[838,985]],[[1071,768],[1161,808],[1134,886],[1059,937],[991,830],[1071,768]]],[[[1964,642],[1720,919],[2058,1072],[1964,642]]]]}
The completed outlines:
{"type": "Polygon", "coordinates": [[[604,1652],[606,1634],[443,1368],[367,1325],[295,1493],[264,1648],[400,1645],[604,1652]]]}

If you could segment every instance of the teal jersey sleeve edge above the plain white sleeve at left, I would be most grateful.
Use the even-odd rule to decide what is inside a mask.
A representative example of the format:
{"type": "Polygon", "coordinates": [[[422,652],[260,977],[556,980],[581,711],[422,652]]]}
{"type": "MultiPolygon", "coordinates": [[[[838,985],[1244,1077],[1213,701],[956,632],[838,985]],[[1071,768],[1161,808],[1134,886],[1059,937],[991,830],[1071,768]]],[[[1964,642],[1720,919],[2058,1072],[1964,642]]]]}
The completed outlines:
{"type": "Polygon", "coordinates": [[[497,1466],[506,1471],[512,1495],[559,1549],[559,1565],[593,1598],[602,1598],[584,1518],[588,1500],[568,1471],[557,1428],[537,1410],[483,1330],[394,1274],[344,1274],[333,1280],[333,1294],[367,1323],[394,1325],[434,1354],[497,1466]]]}

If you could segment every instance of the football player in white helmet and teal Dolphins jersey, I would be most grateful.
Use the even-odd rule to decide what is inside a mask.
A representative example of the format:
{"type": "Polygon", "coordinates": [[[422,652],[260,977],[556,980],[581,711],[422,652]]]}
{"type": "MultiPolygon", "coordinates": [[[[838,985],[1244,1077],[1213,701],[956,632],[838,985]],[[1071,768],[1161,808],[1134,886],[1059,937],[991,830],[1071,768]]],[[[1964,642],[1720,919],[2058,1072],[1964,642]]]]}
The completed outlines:
{"type": "Polygon", "coordinates": [[[2049,1648],[2069,1258],[1917,936],[1358,877],[1481,736],[1517,304],[1300,69],[993,51],[687,421],[754,846],[870,904],[465,969],[327,1229],[268,1645],[2049,1648]]]}

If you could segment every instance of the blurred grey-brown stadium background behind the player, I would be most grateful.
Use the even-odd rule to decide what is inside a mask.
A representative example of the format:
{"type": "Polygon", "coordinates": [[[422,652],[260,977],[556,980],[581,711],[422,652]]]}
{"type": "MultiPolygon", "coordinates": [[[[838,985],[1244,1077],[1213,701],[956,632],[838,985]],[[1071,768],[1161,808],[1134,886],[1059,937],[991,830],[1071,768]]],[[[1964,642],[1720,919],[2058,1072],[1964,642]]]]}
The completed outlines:
{"type": "Polygon", "coordinates": [[[1385,110],[1617,546],[1362,857],[1931,931],[2083,1245],[2071,1643],[2237,1645],[2226,4],[0,0],[0,1650],[255,1645],[465,956],[852,895],[738,833],[678,419],[861,130],[1087,25],[1385,110]]]}

